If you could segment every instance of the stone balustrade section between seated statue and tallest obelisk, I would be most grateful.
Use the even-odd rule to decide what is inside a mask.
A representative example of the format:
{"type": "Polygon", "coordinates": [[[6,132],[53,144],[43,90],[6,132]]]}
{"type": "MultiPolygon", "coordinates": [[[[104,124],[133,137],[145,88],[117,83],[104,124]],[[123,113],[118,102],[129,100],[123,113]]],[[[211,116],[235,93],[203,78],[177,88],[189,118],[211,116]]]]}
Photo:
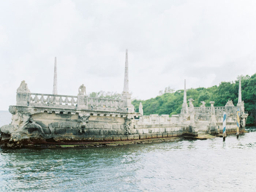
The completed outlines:
{"type": "Polygon", "coordinates": [[[88,97],[88,108],[91,110],[123,111],[124,101],[88,97]]]}

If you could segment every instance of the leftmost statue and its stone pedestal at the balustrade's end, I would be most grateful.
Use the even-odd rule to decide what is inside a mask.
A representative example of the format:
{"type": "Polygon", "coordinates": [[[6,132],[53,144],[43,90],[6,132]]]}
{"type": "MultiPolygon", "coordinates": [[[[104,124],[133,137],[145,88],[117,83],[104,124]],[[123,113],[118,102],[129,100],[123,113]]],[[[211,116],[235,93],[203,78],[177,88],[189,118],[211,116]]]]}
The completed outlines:
{"type": "Polygon", "coordinates": [[[26,82],[23,80],[20,83],[16,92],[16,105],[29,105],[31,99],[30,90],[27,87],[26,82]]]}

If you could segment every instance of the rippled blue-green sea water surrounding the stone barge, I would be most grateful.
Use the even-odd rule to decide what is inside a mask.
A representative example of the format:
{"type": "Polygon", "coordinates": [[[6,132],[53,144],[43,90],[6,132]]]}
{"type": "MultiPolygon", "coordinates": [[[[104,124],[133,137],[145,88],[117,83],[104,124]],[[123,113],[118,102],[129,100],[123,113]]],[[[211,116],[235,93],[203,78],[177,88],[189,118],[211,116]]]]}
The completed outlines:
{"type": "Polygon", "coordinates": [[[256,127],[246,130],[225,142],[0,149],[0,191],[256,191],[256,127]]]}

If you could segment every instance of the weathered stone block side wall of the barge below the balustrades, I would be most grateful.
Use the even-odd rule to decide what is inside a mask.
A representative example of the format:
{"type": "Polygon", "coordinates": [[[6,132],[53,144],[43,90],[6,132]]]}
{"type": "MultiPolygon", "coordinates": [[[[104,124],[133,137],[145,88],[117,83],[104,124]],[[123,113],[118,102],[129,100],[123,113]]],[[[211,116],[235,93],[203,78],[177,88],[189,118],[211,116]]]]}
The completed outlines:
{"type": "MultiPolygon", "coordinates": [[[[162,137],[177,137],[182,130],[177,124],[136,124],[138,120],[132,119],[131,134],[126,134],[124,117],[90,115],[86,133],[79,133],[78,114],[39,113],[32,115],[47,138],[56,141],[71,139],[74,141],[124,141],[133,139],[148,139],[162,137]]],[[[32,133],[33,128],[29,128],[32,133]]],[[[188,127],[187,127],[188,131],[188,127]]]]}

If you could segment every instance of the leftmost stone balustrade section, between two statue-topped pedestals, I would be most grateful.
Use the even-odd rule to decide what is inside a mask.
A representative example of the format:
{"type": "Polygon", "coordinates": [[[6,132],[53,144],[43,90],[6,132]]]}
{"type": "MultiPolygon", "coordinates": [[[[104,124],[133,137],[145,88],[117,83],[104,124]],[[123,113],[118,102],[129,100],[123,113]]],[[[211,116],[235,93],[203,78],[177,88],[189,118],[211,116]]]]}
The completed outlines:
{"type": "Polygon", "coordinates": [[[33,106],[58,105],[62,107],[75,108],[76,104],[77,104],[77,96],[31,93],[29,105],[33,105],[33,106]]]}

